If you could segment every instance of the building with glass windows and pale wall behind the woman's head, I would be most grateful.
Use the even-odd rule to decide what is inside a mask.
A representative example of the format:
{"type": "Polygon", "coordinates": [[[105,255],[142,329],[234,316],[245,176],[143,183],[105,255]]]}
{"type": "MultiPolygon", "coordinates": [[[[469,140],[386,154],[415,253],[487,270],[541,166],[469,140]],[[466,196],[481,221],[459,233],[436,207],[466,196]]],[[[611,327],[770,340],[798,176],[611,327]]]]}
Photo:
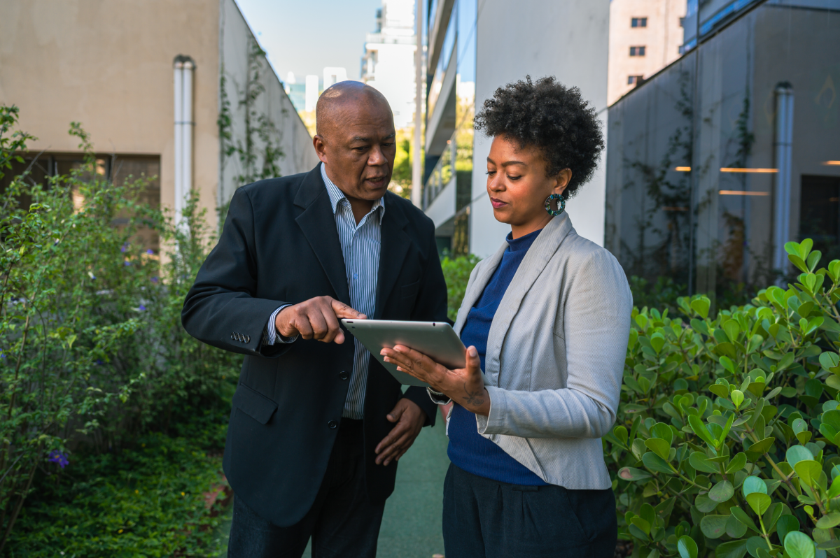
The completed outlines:
{"type": "MultiPolygon", "coordinates": [[[[475,108],[496,88],[531,76],[578,86],[606,117],[606,2],[534,0],[528,9],[504,0],[427,0],[425,171],[422,205],[438,248],[486,257],[510,227],[493,217],[486,193],[491,140],[473,133],[475,108]],[[515,24],[511,24],[515,22],[515,24]]],[[[566,206],[575,229],[603,242],[603,165],[566,206]]]]}

